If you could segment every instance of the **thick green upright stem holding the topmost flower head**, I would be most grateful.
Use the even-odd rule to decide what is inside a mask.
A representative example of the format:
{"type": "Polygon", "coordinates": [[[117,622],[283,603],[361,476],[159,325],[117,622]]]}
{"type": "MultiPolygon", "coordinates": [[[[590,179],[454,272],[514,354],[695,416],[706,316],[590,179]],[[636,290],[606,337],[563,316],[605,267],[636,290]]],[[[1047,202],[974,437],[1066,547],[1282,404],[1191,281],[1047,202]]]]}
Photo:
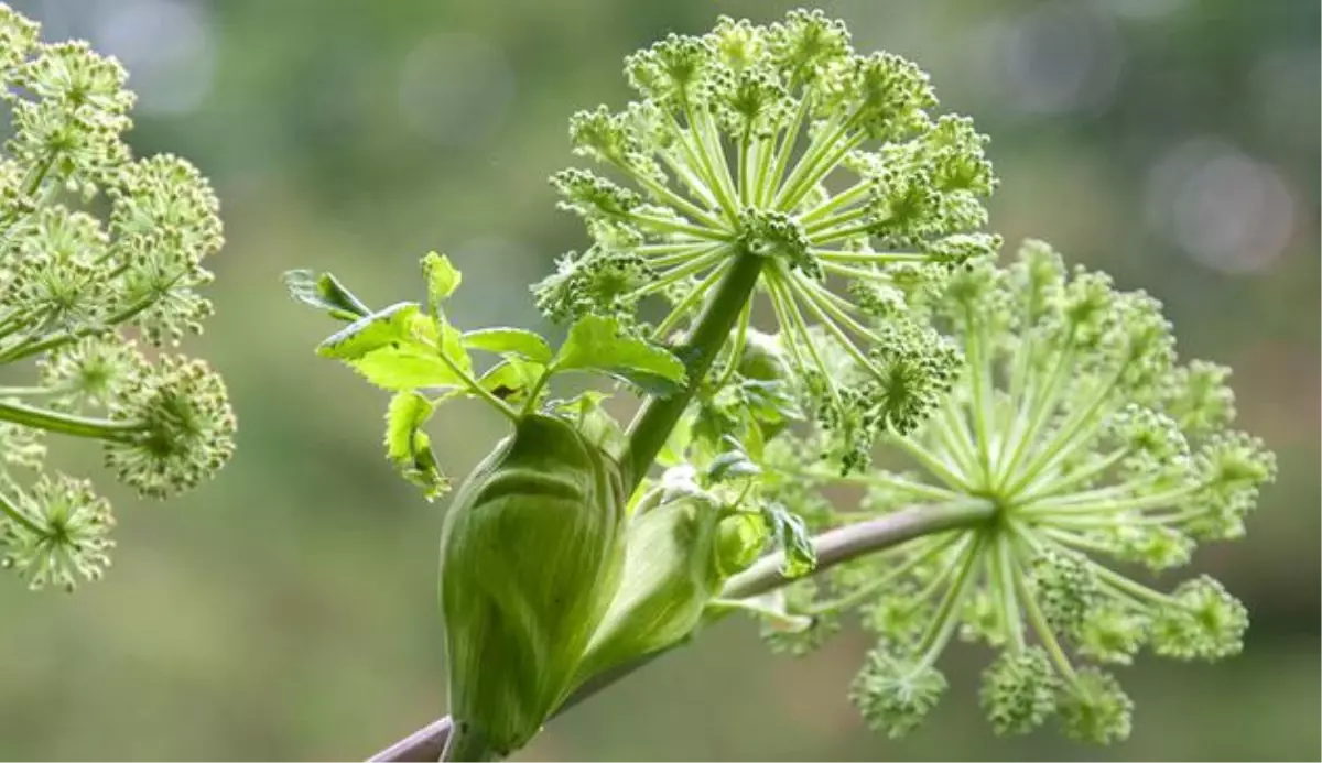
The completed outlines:
{"type": "Polygon", "coordinates": [[[747,252],[735,255],[734,264],[707,300],[689,338],[676,350],[683,359],[689,384],[682,392],[669,397],[648,397],[629,425],[629,441],[620,454],[620,462],[629,470],[631,490],[646,477],[657,453],[670,438],[670,432],[711,368],[713,360],[730,339],[730,331],[739,322],[739,314],[752,298],[764,263],[763,257],[747,252]]]}

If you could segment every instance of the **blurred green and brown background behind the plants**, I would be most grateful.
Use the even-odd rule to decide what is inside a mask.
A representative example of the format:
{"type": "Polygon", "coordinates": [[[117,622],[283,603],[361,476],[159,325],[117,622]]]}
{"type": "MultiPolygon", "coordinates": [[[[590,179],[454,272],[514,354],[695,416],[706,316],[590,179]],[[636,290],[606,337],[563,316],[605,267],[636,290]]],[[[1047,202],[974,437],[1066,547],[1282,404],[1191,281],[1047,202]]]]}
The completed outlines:
{"type": "MultiPolygon", "coordinates": [[[[0,580],[0,762],[360,760],[444,710],[435,606],[442,506],[381,451],[386,397],[312,347],[328,321],[279,273],[332,269],[373,304],[418,298],[449,253],[464,325],[545,329],[526,285],[579,247],[543,178],[568,115],[628,98],[621,58],[756,0],[8,0],[48,40],[120,57],[139,152],[212,177],[229,246],[218,315],[186,350],[227,376],[238,455],[167,506],[116,494],[108,577],[74,597],[0,580]]],[[[1182,352],[1236,371],[1241,424],[1277,450],[1243,543],[1198,568],[1253,615],[1224,664],[1144,660],[1129,743],[995,741],[985,656],[903,742],[845,698],[846,634],[775,657],[748,623],[554,722],[525,763],[1322,760],[1322,3],[836,0],[859,49],[932,73],[993,136],[995,228],[1166,302],[1182,352]]],[[[432,428],[463,474],[501,432],[476,407],[432,428]]],[[[99,481],[103,487],[110,481],[99,481]]]]}

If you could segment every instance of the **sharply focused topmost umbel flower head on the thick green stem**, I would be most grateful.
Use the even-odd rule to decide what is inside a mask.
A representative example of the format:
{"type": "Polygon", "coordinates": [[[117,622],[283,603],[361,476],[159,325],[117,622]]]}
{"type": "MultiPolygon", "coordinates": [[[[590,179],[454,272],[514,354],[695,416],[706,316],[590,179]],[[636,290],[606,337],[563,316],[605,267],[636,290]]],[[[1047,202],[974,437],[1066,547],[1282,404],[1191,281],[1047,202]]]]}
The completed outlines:
{"type": "MultiPolygon", "coordinates": [[[[855,53],[843,24],[821,12],[767,26],[723,17],[707,34],[672,34],[629,57],[625,74],[639,100],[570,123],[575,153],[619,182],[582,169],[551,178],[592,246],[534,286],[538,305],[555,319],[603,314],[666,341],[740,259],[758,257],[758,293],[788,362],[814,379],[830,450],[843,470],[859,469],[876,434],[912,429],[957,367],[944,342],[886,305],[999,247],[976,232],[995,186],[986,139],[968,119],[929,114],[936,96],[914,63],[855,53]],[[637,322],[653,296],[668,312],[637,322]],[[870,321],[878,312],[886,329],[870,321]],[[833,378],[818,333],[846,350],[857,379],[833,378]]],[[[743,305],[742,323],[752,309],[743,305]]],[[[736,342],[734,356],[742,350],[736,342]]]]}

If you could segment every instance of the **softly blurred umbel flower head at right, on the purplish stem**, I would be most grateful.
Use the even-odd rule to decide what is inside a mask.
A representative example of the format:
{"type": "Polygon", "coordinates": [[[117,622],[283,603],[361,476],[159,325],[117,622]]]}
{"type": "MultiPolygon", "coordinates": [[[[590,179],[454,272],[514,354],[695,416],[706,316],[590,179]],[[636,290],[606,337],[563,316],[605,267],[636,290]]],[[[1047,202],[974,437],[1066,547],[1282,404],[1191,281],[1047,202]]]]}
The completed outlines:
{"type": "MultiPolygon", "coordinates": [[[[1228,370],[1177,362],[1155,300],[1069,272],[1042,242],[1009,267],[984,261],[915,289],[906,306],[964,355],[933,416],[886,438],[912,471],[841,478],[787,453],[772,459],[792,477],[785,490],[843,479],[867,488],[865,515],[925,506],[954,529],[832,570],[838,598],[796,603],[818,615],[859,607],[879,640],[851,696],[891,735],[936,704],[947,689],[936,663],[962,638],[1001,652],[981,692],[998,733],[1056,715],[1071,737],[1124,739],[1132,704],[1100,665],[1126,665],[1145,647],[1235,655],[1248,615],[1210,577],[1166,593],[1116,565],[1166,570],[1198,543],[1243,535],[1273,455],[1229,429],[1228,370]]],[[[822,352],[849,363],[829,342],[822,352]]],[[[813,506],[818,525],[846,521],[813,506]]]]}

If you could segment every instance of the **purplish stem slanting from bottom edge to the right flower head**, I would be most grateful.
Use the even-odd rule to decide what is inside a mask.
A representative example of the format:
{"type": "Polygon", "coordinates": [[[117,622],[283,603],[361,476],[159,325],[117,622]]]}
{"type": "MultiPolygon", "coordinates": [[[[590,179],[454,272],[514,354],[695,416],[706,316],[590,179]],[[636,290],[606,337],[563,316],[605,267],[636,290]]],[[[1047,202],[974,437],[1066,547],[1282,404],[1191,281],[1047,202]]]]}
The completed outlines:
{"type": "MultiPolygon", "coordinates": [[[[817,550],[817,569],[813,572],[814,574],[822,573],[850,560],[919,537],[951,529],[978,527],[992,520],[994,514],[995,507],[990,503],[957,507],[911,507],[870,521],[838,527],[813,539],[813,548],[817,550]]],[[[764,556],[747,570],[726,581],[724,589],[718,598],[750,598],[789,583],[791,580],[780,572],[784,564],[785,558],[781,552],[764,556]]],[[[711,619],[719,619],[724,614],[728,614],[728,610],[715,614],[711,619]]],[[[662,653],[665,652],[646,655],[635,663],[607,671],[588,680],[557,710],[557,715],[646,665],[662,653]]],[[[448,717],[442,718],[369,758],[366,763],[435,763],[442,750],[444,750],[452,729],[453,723],[451,719],[448,717]]]]}

